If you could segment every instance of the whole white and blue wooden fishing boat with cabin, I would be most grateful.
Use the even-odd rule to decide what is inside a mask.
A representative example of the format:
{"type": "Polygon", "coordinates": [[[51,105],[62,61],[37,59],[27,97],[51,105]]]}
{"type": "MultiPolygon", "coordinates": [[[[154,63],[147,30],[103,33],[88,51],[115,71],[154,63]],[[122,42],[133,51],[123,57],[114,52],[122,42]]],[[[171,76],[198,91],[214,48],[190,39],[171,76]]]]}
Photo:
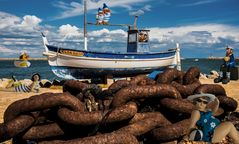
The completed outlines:
{"type": "MultiPolygon", "coordinates": [[[[86,13],[86,12],[85,12],[86,13]]],[[[128,26],[127,52],[109,53],[87,50],[86,19],[84,20],[84,50],[50,45],[42,34],[48,63],[54,74],[64,79],[126,77],[150,73],[169,66],[180,69],[179,45],[164,52],[150,52],[149,30],[128,26]],[[142,38],[144,36],[144,38],[142,38]]],[[[107,26],[111,26],[107,24],[107,26]]]]}

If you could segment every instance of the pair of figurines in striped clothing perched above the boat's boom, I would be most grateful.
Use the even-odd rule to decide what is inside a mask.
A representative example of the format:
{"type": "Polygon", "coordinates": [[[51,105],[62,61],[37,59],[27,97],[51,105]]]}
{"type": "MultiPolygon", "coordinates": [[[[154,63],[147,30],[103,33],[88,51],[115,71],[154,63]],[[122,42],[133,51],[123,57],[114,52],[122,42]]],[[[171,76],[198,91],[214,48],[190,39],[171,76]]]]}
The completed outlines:
{"type": "Polygon", "coordinates": [[[104,3],[103,9],[101,8],[98,9],[98,13],[96,15],[96,24],[99,24],[99,25],[109,24],[110,16],[111,16],[111,11],[109,7],[104,3]]]}

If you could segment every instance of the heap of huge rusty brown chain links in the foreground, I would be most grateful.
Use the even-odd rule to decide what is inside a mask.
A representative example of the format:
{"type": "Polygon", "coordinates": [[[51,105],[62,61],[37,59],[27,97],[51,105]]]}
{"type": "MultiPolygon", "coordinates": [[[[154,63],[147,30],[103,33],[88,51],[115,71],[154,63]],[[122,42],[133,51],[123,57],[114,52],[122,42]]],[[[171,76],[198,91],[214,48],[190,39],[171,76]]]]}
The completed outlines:
{"type": "MultiPolygon", "coordinates": [[[[186,134],[195,93],[212,93],[220,101],[218,118],[237,102],[217,84],[201,84],[200,70],[168,68],[156,80],[146,75],[118,80],[107,90],[68,80],[64,93],[44,93],[15,101],[4,113],[0,142],[40,144],[175,143],[186,134]]],[[[212,104],[213,105],[213,104],[212,104]]],[[[238,121],[238,117],[233,117],[238,121]]]]}

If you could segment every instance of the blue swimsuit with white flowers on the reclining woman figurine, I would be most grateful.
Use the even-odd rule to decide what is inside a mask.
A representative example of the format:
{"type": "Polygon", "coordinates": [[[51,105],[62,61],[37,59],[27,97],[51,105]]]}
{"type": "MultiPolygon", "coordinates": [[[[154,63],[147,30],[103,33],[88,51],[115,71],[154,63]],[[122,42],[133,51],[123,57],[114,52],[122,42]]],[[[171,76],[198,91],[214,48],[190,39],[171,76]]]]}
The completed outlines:
{"type": "Polygon", "coordinates": [[[212,115],[212,111],[200,111],[200,119],[197,121],[196,126],[202,130],[205,142],[211,142],[214,129],[220,124],[220,121],[212,115]]]}

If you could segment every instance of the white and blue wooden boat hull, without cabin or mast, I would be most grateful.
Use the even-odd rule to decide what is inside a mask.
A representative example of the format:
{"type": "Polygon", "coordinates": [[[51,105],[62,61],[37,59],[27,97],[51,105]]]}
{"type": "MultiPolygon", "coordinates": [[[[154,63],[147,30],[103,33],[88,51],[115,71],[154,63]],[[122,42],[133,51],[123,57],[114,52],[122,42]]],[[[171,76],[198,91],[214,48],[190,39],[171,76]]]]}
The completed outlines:
{"type": "Polygon", "coordinates": [[[54,74],[65,79],[125,77],[150,73],[175,65],[176,51],[162,53],[103,53],[47,46],[54,74]]]}

